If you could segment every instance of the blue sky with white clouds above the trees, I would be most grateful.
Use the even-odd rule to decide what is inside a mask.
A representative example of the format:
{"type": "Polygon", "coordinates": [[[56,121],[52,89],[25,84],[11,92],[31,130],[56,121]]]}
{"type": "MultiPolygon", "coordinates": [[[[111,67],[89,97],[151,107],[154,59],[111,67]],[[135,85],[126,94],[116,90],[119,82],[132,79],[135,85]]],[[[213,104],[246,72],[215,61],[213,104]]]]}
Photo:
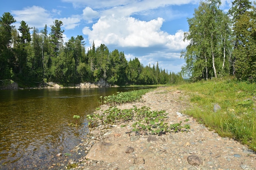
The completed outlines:
{"type": "MultiPolygon", "coordinates": [[[[227,11],[231,0],[221,0],[227,11]]],[[[39,31],[55,20],[63,22],[64,42],[83,35],[85,48],[105,44],[109,51],[124,52],[126,60],[137,57],[144,66],[159,64],[178,73],[185,64],[180,52],[200,0],[0,0],[0,16],[9,12],[16,29],[24,20],[39,31]]],[[[31,29],[32,31],[32,29],[31,29]]]]}

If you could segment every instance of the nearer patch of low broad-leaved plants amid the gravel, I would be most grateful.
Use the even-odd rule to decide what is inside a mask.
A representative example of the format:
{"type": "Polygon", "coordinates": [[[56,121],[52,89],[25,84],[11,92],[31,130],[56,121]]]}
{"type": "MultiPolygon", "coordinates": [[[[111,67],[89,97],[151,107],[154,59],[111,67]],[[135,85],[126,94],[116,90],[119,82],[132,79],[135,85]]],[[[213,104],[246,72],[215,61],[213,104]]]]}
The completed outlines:
{"type": "MultiPolygon", "coordinates": [[[[105,110],[103,115],[87,115],[89,121],[88,127],[93,128],[97,126],[96,124],[101,122],[101,124],[121,124],[135,120],[132,124],[132,131],[139,132],[141,135],[152,134],[152,135],[162,135],[167,132],[184,132],[190,128],[188,124],[182,126],[182,121],[177,124],[165,123],[164,120],[167,113],[164,110],[151,111],[150,108],[143,106],[141,108],[133,107],[131,109],[121,110],[117,107],[110,107],[105,110]],[[93,125],[93,126],[92,126],[93,125]]],[[[185,121],[188,121],[186,119],[185,121]]],[[[121,127],[126,127],[127,124],[121,125],[121,127]]],[[[126,127],[127,133],[130,135],[130,130],[126,127]]]]}

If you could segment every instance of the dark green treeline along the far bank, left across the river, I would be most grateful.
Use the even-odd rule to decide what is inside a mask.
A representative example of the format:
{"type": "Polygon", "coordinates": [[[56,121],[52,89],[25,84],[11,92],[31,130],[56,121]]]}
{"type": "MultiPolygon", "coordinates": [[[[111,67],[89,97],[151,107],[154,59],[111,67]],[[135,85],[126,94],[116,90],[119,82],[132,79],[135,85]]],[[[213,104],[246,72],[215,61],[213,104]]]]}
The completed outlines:
{"type": "Polygon", "coordinates": [[[18,30],[6,12],[0,17],[0,79],[18,82],[59,82],[78,84],[106,80],[109,84],[173,84],[182,81],[181,73],[168,73],[157,65],[143,66],[138,58],[126,60],[124,52],[94,43],[86,52],[83,36],[63,43],[63,22],[55,20],[39,31],[25,21],[18,30]],[[30,29],[33,29],[32,35],[30,29]]]}

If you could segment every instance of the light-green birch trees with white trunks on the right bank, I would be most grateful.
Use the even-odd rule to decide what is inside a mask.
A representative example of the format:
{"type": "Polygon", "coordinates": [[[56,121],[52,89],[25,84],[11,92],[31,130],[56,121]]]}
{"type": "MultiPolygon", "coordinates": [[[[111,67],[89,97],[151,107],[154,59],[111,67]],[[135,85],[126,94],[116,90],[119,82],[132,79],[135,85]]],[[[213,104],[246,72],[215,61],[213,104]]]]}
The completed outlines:
{"type": "Polygon", "coordinates": [[[184,41],[189,40],[190,44],[181,52],[186,61],[182,73],[194,80],[217,78],[217,73],[223,76],[229,71],[226,56],[231,51],[230,21],[219,9],[220,3],[201,1],[193,18],[188,19],[189,32],[184,34],[184,41]]]}

